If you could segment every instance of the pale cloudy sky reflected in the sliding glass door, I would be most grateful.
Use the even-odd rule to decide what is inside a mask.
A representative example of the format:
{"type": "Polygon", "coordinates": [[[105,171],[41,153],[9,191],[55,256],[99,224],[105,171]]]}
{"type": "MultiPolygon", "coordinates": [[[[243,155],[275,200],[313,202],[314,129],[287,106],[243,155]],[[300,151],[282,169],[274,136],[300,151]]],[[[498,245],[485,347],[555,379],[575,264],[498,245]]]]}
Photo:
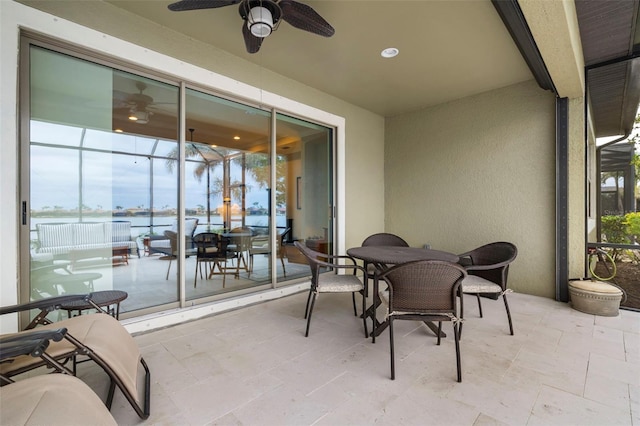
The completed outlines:
{"type": "MultiPolygon", "coordinates": [[[[102,136],[110,135],[108,132],[100,133],[102,136]]],[[[87,135],[85,138],[88,137],[87,135]]],[[[32,140],[39,142],[32,144],[30,151],[32,210],[42,210],[46,207],[53,209],[55,206],[65,210],[76,208],[79,204],[80,170],[82,170],[83,204],[91,209],[112,210],[118,206],[125,209],[150,207],[164,209],[177,206],[177,171],[175,168],[170,171],[165,159],[153,160],[154,205],[150,206],[151,160],[149,157],[83,151],[80,158],[79,150],[68,148],[78,146],[79,143],[73,140],[79,137],[79,134],[70,133],[65,126],[44,125],[40,129],[34,129],[32,126],[32,140]],[[56,132],[58,132],[57,135],[56,132]],[[69,142],[70,140],[73,142],[69,142]],[[47,144],[47,146],[41,144],[47,144]]],[[[91,146],[88,142],[86,145],[91,146]]],[[[108,142],[104,145],[109,151],[115,149],[108,145],[108,142]]],[[[142,151],[143,145],[139,149],[142,151]]],[[[130,151],[140,152],[135,148],[130,151]]],[[[198,205],[206,207],[206,179],[198,181],[194,177],[193,167],[194,163],[187,163],[186,207],[197,208],[198,205]]],[[[218,166],[212,171],[212,181],[216,174],[221,176],[221,173],[221,167],[218,166]]],[[[240,175],[240,168],[233,163],[231,174],[238,177],[240,175]]],[[[267,207],[267,190],[260,189],[249,174],[245,179],[248,188],[246,207],[251,207],[254,203],[267,207]]],[[[212,194],[212,209],[221,204],[222,194],[212,194]]]]}

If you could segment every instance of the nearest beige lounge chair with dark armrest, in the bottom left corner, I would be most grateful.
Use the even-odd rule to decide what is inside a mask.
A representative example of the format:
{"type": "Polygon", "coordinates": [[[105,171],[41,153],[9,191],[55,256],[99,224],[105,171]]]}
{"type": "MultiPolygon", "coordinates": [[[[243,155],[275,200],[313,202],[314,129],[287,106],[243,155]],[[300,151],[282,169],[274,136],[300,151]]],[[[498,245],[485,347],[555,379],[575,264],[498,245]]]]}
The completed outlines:
{"type": "MultiPolygon", "coordinates": [[[[0,362],[41,357],[50,341],[66,329],[18,333],[0,340],[0,362]]],[[[66,374],[30,377],[0,388],[3,425],[116,425],[109,410],[89,386],[66,374]]]]}

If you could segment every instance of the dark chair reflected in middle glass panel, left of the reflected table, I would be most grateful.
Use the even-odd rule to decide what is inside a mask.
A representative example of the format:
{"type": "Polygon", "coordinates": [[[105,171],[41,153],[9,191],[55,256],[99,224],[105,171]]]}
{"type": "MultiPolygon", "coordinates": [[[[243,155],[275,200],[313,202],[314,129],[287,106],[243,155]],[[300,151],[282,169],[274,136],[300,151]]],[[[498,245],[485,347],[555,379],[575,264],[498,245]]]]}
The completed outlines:
{"type": "MultiPolygon", "coordinates": [[[[198,283],[198,271],[200,271],[200,279],[202,279],[202,264],[204,263],[206,279],[213,275],[222,275],[222,288],[224,288],[227,261],[236,257],[236,254],[228,249],[229,240],[213,232],[202,232],[193,237],[193,242],[196,245],[196,274],[193,279],[193,287],[195,288],[198,283]],[[218,272],[216,272],[216,266],[218,272]]],[[[237,276],[238,268],[235,270],[234,274],[237,276]]]]}

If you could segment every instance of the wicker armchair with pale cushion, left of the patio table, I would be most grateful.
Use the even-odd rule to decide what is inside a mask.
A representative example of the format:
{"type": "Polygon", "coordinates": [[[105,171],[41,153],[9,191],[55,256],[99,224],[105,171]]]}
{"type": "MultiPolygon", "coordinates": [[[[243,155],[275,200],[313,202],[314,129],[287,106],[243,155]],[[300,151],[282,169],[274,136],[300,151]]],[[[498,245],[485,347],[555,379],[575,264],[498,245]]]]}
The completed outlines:
{"type": "Polygon", "coordinates": [[[309,325],[311,324],[311,314],[316,297],[319,293],[351,293],[353,300],[353,314],[358,316],[356,310],[356,293],[362,294],[362,321],[364,323],[364,337],[369,336],[367,331],[367,317],[365,315],[365,294],[364,284],[356,275],[361,271],[363,278],[366,275],[364,268],[356,263],[351,256],[339,256],[326,253],[320,253],[301,244],[299,241],[294,245],[306,257],[309,267],[311,268],[311,287],[309,288],[309,296],[307,297],[307,306],[305,308],[304,317],[307,320],[307,330],[305,337],[309,336],[309,325]],[[344,259],[348,264],[339,264],[338,261],[344,259]],[[338,274],[341,269],[350,269],[352,274],[338,274]],[[333,271],[332,274],[321,274],[324,271],[333,271]]]}

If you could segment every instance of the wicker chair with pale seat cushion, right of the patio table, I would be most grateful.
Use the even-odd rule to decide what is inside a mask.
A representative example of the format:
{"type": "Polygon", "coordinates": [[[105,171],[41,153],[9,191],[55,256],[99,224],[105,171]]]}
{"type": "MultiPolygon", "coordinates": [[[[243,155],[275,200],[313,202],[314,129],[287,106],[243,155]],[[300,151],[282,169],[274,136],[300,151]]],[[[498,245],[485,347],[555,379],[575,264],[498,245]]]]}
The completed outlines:
{"type": "Polygon", "coordinates": [[[513,323],[507,302],[507,293],[509,292],[507,278],[509,265],[517,255],[518,249],[514,244],[502,241],[485,244],[459,255],[460,264],[464,266],[468,274],[462,282],[462,292],[476,295],[480,318],[482,318],[480,295],[494,295],[496,300],[502,296],[511,335],[513,335],[513,323]]]}

